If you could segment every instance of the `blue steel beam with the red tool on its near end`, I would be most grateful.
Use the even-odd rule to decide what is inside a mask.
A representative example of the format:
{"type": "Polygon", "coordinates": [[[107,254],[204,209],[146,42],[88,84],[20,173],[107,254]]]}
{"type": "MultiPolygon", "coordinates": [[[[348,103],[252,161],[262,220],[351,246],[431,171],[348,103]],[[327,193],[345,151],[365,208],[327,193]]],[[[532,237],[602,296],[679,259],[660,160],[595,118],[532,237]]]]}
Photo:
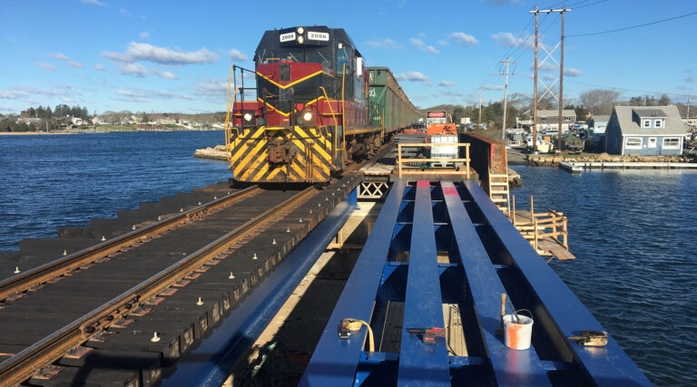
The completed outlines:
{"type": "Polygon", "coordinates": [[[450,385],[445,340],[427,344],[409,328],[444,328],[438,280],[436,235],[427,181],[417,181],[417,198],[409,248],[407,295],[399,353],[398,385],[450,385]]]}

